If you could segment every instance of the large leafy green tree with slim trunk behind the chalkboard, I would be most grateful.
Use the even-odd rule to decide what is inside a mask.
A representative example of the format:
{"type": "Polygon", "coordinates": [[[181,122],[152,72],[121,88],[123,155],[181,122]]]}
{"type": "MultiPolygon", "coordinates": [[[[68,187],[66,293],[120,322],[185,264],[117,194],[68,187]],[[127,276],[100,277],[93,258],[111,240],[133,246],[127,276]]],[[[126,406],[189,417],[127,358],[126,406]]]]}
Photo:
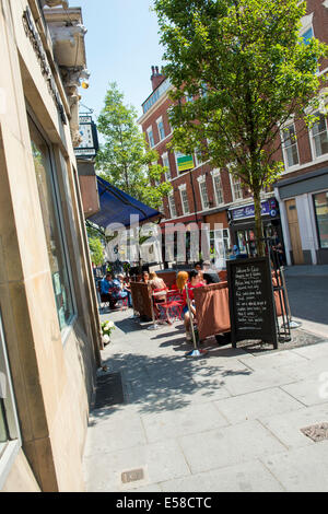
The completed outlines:
{"type": "Polygon", "coordinates": [[[174,86],[172,143],[200,151],[250,190],[263,255],[260,191],[282,171],[273,156],[284,124],[314,122],[327,46],[300,37],[298,0],[155,0],[154,9],[174,86]]]}

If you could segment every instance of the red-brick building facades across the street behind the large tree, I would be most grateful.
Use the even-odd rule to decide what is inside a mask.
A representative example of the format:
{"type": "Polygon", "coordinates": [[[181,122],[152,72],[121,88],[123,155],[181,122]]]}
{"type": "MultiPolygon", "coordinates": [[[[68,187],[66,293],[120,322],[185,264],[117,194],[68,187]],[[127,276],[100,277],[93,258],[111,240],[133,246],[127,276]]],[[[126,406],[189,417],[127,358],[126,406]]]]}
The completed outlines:
{"type": "MultiPolygon", "coordinates": [[[[327,26],[328,0],[308,0],[301,28],[304,42],[309,37],[327,42],[327,26]]],[[[318,73],[323,74],[326,70],[327,61],[323,61],[318,73]]],[[[254,206],[249,191],[243,190],[227,170],[213,170],[209,163],[201,163],[197,155],[192,156],[194,166],[190,170],[178,171],[179,155],[167,149],[172,139],[168,120],[171,84],[157,67],[152,67],[151,82],[153,91],[142,104],[143,115],[139,122],[149,145],[159,152],[159,163],[169,168],[162,176],[162,180],[169,180],[173,186],[172,195],[163,201],[165,220],[162,225],[172,221],[187,226],[190,222],[210,223],[213,231],[214,223],[222,223],[226,250],[237,244],[241,250],[254,252],[254,206]]],[[[290,144],[291,138],[284,138],[283,148],[277,153],[276,157],[284,162],[284,173],[276,184],[274,192],[262,192],[265,234],[274,235],[284,243],[288,264],[324,264],[328,261],[328,227],[325,221],[325,215],[326,219],[328,215],[327,118],[321,116],[319,136],[313,137],[316,128],[308,131],[302,121],[291,124],[289,128],[291,132],[288,133],[296,133],[297,148],[294,143],[290,144]],[[324,127],[326,132],[323,131],[324,127]],[[316,139],[319,141],[316,142],[316,139]],[[320,145],[317,150],[316,144],[320,145]],[[316,151],[321,152],[320,155],[316,155],[316,151]],[[315,191],[321,195],[318,198],[319,221],[315,212],[316,197],[311,198],[315,191]],[[290,201],[293,198],[298,219],[293,212],[289,219],[289,209],[294,210],[294,203],[290,201]],[[324,240],[320,230],[324,231],[324,240]]],[[[212,240],[214,235],[211,233],[212,240]]]]}

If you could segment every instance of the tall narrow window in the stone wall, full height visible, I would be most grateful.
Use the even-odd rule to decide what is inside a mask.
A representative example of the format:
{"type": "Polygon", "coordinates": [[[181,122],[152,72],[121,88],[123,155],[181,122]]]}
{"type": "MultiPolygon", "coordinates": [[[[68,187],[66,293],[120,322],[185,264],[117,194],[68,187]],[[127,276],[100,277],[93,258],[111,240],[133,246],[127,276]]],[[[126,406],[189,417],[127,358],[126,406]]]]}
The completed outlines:
{"type": "Polygon", "coordinates": [[[59,326],[62,330],[71,324],[74,308],[70,280],[71,268],[63,235],[60,197],[54,174],[50,149],[31,119],[30,133],[52,288],[59,326]]]}

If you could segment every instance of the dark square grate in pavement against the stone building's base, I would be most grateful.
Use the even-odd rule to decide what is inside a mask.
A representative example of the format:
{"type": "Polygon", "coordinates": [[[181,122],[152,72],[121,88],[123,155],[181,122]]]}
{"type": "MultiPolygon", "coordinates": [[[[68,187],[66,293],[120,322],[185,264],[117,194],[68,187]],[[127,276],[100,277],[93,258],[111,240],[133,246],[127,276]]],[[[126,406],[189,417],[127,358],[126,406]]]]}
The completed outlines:
{"type": "Polygon", "coordinates": [[[103,407],[124,402],[125,394],[120,373],[108,373],[98,376],[94,409],[102,409],[103,407]]]}

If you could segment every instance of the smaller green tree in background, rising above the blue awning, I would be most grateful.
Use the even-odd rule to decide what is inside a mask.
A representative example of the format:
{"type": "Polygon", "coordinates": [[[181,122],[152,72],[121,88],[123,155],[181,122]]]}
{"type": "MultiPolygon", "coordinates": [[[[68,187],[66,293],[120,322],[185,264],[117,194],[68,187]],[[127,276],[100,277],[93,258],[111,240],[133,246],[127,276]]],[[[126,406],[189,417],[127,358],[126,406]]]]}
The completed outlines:
{"type": "Polygon", "coordinates": [[[97,128],[105,140],[96,157],[101,176],[133,198],[159,209],[172,186],[161,183],[164,170],[157,164],[159,154],[147,148],[137,124],[137,112],[134,107],[125,105],[124,95],[115,82],[109,84],[97,128]]]}

